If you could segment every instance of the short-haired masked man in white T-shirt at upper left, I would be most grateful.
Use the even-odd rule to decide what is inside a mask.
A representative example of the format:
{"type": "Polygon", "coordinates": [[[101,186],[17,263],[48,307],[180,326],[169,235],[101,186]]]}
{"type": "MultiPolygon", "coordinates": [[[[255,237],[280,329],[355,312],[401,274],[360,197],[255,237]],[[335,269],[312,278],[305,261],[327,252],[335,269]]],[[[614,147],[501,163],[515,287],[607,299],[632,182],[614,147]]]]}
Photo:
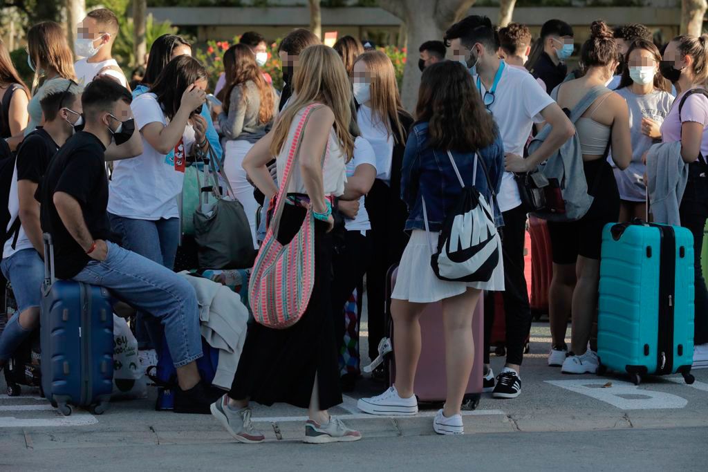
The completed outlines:
{"type": "Polygon", "coordinates": [[[74,42],[74,52],[84,57],[76,64],[76,79],[81,86],[86,86],[98,75],[105,75],[128,88],[125,74],[118,62],[111,57],[113,43],[118,36],[118,17],[108,8],[90,11],[81,21],[74,42]]]}

